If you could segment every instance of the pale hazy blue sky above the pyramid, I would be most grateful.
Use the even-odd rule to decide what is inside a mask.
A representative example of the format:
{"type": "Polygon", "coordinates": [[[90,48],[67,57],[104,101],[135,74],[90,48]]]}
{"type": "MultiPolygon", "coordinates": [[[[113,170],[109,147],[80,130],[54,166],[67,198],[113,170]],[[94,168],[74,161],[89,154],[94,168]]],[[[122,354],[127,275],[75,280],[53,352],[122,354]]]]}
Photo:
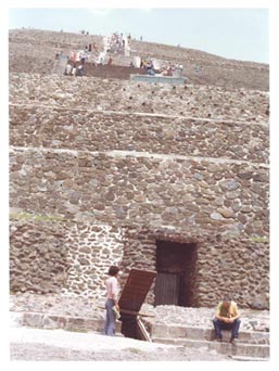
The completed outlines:
{"type": "Polygon", "coordinates": [[[113,31],[220,56],[268,63],[268,9],[10,9],[9,29],[113,31]]]}

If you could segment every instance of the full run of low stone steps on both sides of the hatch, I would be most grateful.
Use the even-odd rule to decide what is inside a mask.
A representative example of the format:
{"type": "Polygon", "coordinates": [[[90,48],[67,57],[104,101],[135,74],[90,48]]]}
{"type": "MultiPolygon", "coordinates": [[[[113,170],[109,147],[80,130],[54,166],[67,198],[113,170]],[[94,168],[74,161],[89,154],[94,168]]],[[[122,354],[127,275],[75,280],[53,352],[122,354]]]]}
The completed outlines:
{"type": "MultiPolygon", "coordinates": [[[[103,319],[84,318],[39,312],[13,312],[12,320],[16,325],[37,329],[63,329],[73,332],[102,333],[103,319]]],[[[150,327],[149,327],[150,328],[150,327]]],[[[116,321],[116,336],[121,333],[122,322],[116,321]]],[[[240,329],[238,344],[229,343],[230,331],[223,331],[223,342],[214,341],[214,331],[206,328],[166,325],[153,323],[150,330],[153,343],[183,346],[192,349],[203,349],[205,353],[216,351],[234,360],[268,360],[269,332],[243,331],[240,329]]]]}

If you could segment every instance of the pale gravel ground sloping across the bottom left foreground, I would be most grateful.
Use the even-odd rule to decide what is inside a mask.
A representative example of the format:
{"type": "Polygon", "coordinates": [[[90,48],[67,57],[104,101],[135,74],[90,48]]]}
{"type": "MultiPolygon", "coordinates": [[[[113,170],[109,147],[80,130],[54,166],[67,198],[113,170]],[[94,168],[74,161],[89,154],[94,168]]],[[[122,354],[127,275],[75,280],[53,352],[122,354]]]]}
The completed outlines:
{"type": "Polygon", "coordinates": [[[10,332],[12,361],[219,361],[215,350],[189,349],[127,337],[63,330],[14,328],[10,332]]]}

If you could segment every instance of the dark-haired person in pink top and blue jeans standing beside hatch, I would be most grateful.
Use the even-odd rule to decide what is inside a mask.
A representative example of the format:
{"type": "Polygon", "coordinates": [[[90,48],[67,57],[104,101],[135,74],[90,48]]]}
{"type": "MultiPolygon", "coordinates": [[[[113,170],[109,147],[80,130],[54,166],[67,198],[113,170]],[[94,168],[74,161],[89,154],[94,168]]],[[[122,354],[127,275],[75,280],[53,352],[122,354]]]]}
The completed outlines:
{"type": "Polygon", "coordinates": [[[116,315],[115,311],[119,311],[118,306],[118,280],[117,276],[119,268],[116,266],[111,266],[109,269],[109,276],[105,280],[106,286],[106,300],[105,300],[105,322],[104,322],[104,335],[114,336],[115,335],[115,322],[116,315]]]}

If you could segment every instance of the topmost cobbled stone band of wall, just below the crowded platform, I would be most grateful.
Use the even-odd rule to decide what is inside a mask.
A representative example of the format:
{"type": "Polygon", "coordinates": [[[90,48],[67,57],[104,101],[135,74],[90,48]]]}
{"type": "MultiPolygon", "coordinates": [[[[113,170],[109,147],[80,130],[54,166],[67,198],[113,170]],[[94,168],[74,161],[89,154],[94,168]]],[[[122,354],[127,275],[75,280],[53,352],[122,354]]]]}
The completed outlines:
{"type": "Polygon", "coordinates": [[[268,93],[212,86],[166,86],[114,79],[10,75],[11,104],[51,105],[261,123],[269,119],[268,93]],[[31,77],[31,78],[30,78],[31,77]]]}

